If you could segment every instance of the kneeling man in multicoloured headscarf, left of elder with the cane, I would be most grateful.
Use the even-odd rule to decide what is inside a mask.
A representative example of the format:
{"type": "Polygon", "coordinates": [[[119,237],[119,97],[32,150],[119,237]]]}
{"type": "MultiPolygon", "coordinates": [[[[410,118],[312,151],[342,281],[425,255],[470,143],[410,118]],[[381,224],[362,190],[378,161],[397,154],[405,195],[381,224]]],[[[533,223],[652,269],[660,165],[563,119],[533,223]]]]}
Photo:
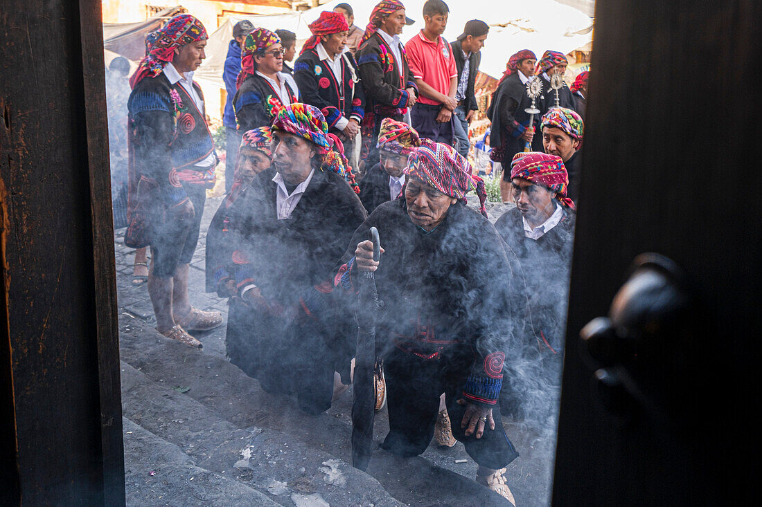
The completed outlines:
{"type": "Polygon", "coordinates": [[[356,336],[339,328],[331,271],[365,219],[341,141],[319,109],[290,104],[272,126],[273,164],[232,204],[235,295],[226,351],[267,392],[317,414],[349,384],[356,336]],[[348,183],[348,184],[347,184],[348,183]]]}

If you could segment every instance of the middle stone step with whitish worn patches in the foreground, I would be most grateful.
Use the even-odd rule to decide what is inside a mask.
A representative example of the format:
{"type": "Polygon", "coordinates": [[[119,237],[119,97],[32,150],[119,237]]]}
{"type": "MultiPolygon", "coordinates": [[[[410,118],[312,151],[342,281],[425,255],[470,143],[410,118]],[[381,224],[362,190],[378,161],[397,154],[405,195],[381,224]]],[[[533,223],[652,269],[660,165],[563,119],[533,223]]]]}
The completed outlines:
{"type": "MultiPolygon", "coordinates": [[[[162,337],[162,340],[165,339],[162,337]]],[[[248,486],[269,502],[402,505],[373,477],[325,451],[310,448],[275,429],[256,426],[241,429],[233,425],[182,394],[186,387],[181,384],[152,381],[125,362],[121,364],[121,375],[123,416],[158,438],[177,445],[178,451],[187,455],[196,467],[248,486]]],[[[168,455],[168,458],[181,456],[168,455]]],[[[190,482],[190,478],[187,480],[190,482]]],[[[182,505],[205,505],[205,502],[197,502],[189,491],[187,502],[182,505]]]]}

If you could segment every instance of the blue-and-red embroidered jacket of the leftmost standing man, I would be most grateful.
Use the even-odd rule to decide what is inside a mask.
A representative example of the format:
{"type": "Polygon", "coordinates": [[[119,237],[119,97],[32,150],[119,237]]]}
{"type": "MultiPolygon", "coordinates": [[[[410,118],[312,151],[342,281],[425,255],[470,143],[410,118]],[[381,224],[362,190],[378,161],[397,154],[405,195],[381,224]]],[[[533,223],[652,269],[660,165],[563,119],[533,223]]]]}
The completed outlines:
{"type": "MultiPolygon", "coordinates": [[[[196,93],[203,100],[199,86],[196,93]]],[[[214,142],[207,121],[178,82],[170,85],[162,72],[138,82],[127,101],[130,143],[139,176],[155,179],[162,196],[179,202],[186,196],[181,180],[214,183],[214,164],[200,171],[194,164],[209,157],[214,142]]]]}

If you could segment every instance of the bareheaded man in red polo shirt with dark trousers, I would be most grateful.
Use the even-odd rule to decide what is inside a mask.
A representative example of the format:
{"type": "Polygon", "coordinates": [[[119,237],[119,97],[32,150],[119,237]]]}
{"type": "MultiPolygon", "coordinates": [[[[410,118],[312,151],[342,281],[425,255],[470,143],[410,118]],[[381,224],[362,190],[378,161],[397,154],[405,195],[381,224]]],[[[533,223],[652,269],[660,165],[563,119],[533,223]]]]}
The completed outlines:
{"type": "Polygon", "coordinates": [[[411,110],[411,124],[421,138],[452,146],[458,71],[450,44],[441,37],[450,8],[442,0],[427,0],[423,14],[424,29],[405,44],[410,71],[421,94],[411,110]]]}

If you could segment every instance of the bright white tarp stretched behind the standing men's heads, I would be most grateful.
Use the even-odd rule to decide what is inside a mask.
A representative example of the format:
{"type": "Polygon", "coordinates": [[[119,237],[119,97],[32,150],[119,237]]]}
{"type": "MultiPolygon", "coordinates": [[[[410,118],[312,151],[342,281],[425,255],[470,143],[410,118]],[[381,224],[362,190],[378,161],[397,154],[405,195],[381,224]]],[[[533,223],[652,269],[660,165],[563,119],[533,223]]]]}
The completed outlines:
{"type": "MultiPolygon", "coordinates": [[[[408,18],[415,24],[405,27],[400,36],[407,42],[423,28],[425,0],[406,0],[408,18]]],[[[333,0],[318,8],[301,13],[268,14],[247,18],[229,18],[207,43],[207,59],[197,70],[194,78],[202,85],[225,88],[223,66],[232,39],[232,27],[242,19],[250,20],[257,27],[268,30],[285,28],[296,33],[297,48],[306,40],[308,24],[319,17],[322,11],[331,10],[341,0],[333,0]]],[[[370,12],[378,0],[354,0],[349,2],[354,9],[354,23],[364,29],[370,12]]],[[[481,19],[490,25],[487,44],[482,49],[482,65],[479,70],[494,78],[500,78],[508,58],[520,49],[531,49],[539,58],[543,51],[552,49],[570,53],[592,39],[592,19],[581,11],[562,5],[555,0],[450,0],[450,17],[447,22],[445,39],[453,41],[463,33],[463,25],[470,19],[481,19]]],[[[297,52],[298,54],[298,52],[297,52]]]]}

